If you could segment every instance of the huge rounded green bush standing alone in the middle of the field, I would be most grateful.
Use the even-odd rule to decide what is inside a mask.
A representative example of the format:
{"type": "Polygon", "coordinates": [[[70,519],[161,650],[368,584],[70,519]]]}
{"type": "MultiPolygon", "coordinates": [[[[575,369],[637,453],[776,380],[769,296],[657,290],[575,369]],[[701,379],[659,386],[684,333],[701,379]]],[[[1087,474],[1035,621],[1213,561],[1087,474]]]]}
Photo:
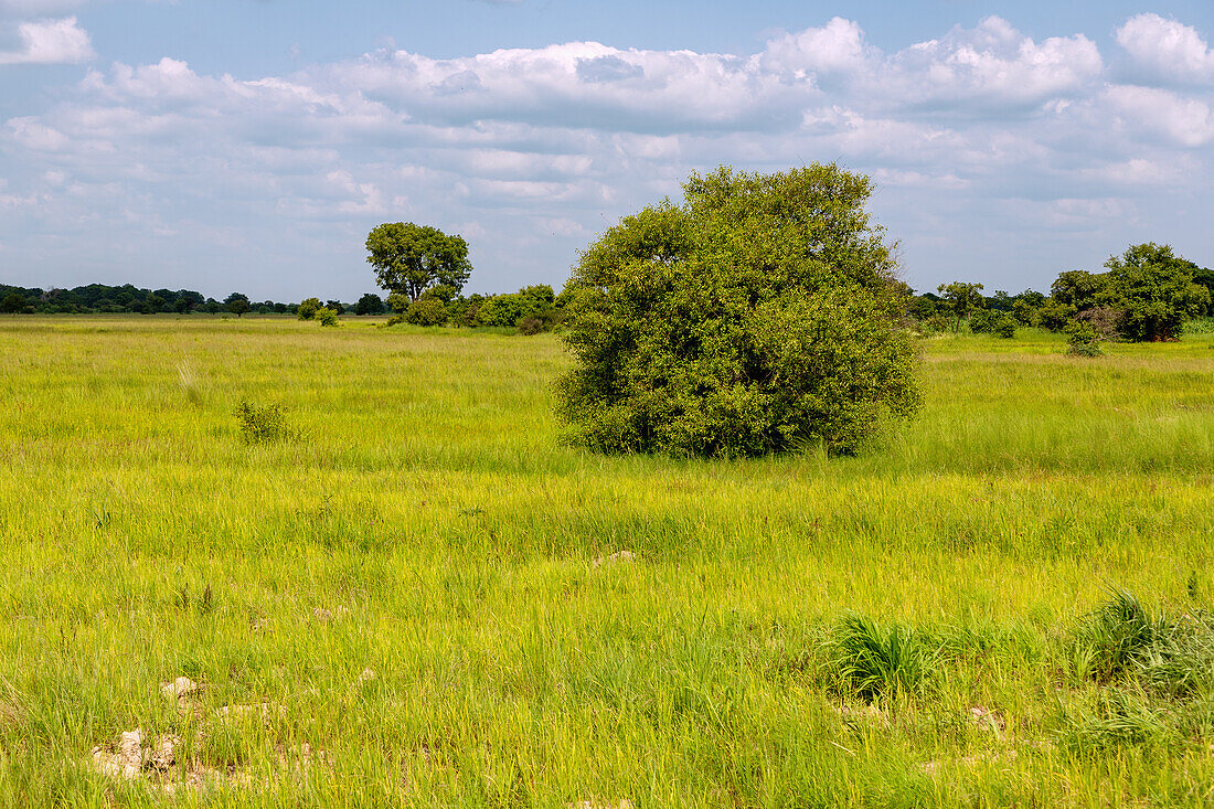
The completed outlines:
{"type": "Polygon", "coordinates": [[[560,412],[608,452],[850,453],[919,406],[895,262],[834,165],[693,175],[686,203],[628,216],[565,296],[575,358],[560,412]]]}

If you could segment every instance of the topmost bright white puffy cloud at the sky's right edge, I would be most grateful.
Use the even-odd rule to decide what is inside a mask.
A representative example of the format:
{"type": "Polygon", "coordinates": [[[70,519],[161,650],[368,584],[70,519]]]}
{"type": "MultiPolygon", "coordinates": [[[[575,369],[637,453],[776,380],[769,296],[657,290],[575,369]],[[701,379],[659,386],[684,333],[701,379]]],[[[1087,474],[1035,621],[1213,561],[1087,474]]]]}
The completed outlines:
{"type": "Polygon", "coordinates": [[[1117,43],[1147,79],[1214,81],[1214,51],[1191,26],[1156,13],[1138,15],[1117,29],[1117,43]]]}

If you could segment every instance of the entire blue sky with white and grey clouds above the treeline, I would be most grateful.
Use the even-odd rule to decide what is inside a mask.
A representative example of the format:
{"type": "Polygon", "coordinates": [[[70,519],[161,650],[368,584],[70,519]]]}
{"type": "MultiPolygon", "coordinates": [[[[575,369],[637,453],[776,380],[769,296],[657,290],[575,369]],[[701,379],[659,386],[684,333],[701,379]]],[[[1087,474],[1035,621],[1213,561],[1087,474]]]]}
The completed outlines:
{"type": "Polygon", "coordinates": [[[375,289],[380,222],[466,292],[560,289],[694,171],[834,162],[919,290],[1214,266],[1210,0],[0,0],[0,283],[375,289]]]}

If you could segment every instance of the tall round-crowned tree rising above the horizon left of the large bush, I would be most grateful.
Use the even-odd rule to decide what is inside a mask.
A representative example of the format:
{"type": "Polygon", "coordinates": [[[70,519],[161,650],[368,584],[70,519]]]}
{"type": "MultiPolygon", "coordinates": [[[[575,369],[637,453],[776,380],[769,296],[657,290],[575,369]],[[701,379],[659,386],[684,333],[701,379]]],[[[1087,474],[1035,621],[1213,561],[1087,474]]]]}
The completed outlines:
{"type": "Polygon", "coordinates": [[[472,265],[467,242],[436,227],[413,222],[387,222],[367,236],[367,261],[375,267],[380,287],[418,300],[430,287],[464,288],[472,265]]]}

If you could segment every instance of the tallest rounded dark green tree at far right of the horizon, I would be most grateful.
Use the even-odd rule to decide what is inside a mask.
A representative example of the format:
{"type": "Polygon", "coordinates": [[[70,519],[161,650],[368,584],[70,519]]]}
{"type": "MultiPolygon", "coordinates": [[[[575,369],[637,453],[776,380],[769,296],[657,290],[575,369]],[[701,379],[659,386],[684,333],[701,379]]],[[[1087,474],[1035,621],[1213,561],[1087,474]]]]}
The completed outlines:
{"type": "Polygon", "coordinates": [[[1185,321],[1210,304],[1209,290],[1193,283],[1196,265],[1167,244],[1133,244],[1105,266],[1097,300],[1121,312],[1117,330],[1128,340],[1175,340],[1185,321]]]}

